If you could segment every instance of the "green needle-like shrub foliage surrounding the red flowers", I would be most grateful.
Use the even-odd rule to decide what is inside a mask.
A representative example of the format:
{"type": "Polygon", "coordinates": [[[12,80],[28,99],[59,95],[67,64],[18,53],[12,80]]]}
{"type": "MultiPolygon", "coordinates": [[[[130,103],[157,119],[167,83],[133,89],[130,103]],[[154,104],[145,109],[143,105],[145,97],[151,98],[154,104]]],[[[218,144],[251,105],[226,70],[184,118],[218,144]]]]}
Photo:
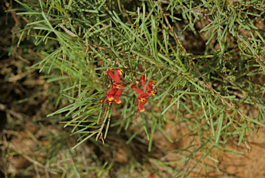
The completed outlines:
{"type": "MultiPolygon", "coordinates": [[[[16,1],[23,8],[12,11],[28,19],[26,28],[19,31],[21,38],[35,37],[37,46],[56,43],[54,48],[43,49],[43,59],[32,68],[58,83],[61,89],[55,105],[59,99],[70,102],[48,117],[72,116],[63,123],[72,126],[72,135],[81,135],[74,148],[88,139],[108,140],[110,127],[119,126],[119,132],[139,126],[134,120],[138,94],[130,86],[121,95],[124,101],[115,106],[115,115],[121,117],[112,119],[112,106],[101,106],[112,82],[106,69],[115,68],[115,59],[117,68],[124,70],[124,81],[135,83],[142,74],[146,81],[157,81],[157,96],[138,114],[148,151],[152,151],[156,130],[173,142],[164,131],[166,123],[183,124],[188,132],[182,137],[193,139],[186,148],[174,150],[183,156],[179,162],[188,163],[201,152],[197,164],[208,157],[217,168],[213,149],[241,154],[225,147],[231,136],[238,135],[238,144],[244,142],[251,149],[246,135],[255,135],[265,126],[264,2],[16,1]],[[205,46],[197,50],[199,55],[188,50],[191,44],[184,46],[185,35],[194,37],[188,43],[205,46]],[[245,106],[257,114],[246,112],[245,106]],[[174,119],[168,117],[171,114],[174,119]]],[[[175,177],[186,177],[197,166],[172,168],[155,161],[175,177]]],[[[99,177],[111,167],[106,162],[99,177]]]]}

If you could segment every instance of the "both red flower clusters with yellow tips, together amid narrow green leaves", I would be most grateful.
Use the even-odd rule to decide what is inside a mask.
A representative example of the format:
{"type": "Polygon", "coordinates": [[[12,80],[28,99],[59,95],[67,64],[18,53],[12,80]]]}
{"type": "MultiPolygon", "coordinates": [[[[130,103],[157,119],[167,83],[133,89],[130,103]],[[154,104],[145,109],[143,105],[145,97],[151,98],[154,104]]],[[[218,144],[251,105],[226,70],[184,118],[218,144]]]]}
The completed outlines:
{"type": "MultiPolygon", "coordinates": [[[[116,62],[115,61],[115,67],[116,67],[116,62]]],[[[101,65],[101,62],[99,62],[101,65]]],[[[141,71],[141,66],[140,66],[140,71],[141,71]]],[[[104,99],[101,101],[101,105],[105,103],[112,103],[113,102],[113,110],[114,112],[116,112],[114,105],[115,103],[121,103],[121,99],[119,99],[119,96],[121,95],[122,91],[124,90],[124,88],[129,85],[129,83],[126,83],[126,81],[124,81],[123,79],[121,79],[121,75],[124,74],[124,72],[121,69],[108,69],[107,70],[107,74],[110,77],[110,79],[112,79],[112,81],[115,81],[115,83],[112,84],[112,88],[110,88],[110,90],[108,90],[106,97],[104,97],[104,99]],[[114,74],[113,74],[114,72],[114,74]],[[122,82],[121,82],[122,81],[122,82]]],[[[136,83],[141,83],[143,89],[137,88],[135,87],[136,84],[133,83],[132,86],[130,86],[130,88],[132,88],[133,90],[135,90],[136,92],[139,93],[138,95],[138,99],[135,101],[135,104],[137,104],[137,101],[139,100],[139,104],[138,104],[138,109],[137,112],[135,114],[135,119],[137,119],[137,113],[138,111],[140,112],[144,112],[144,110],[146,110],[146,108],[144,107],[144,104],[147,103],[148,99],[152,96],[156,95],[156,92],[153,90],[153,87],[156,84],[156,81],[151,80],[148,82],[147,86],[146,86],[146,81],[145,81],[145,75],[141,75],[141,77],[139,79],[137,79],[136,83]],[[145,88],[146,86],[146,88],[145,88]],[[146,92],[145,92],[146,89],[146,92]]]]}

